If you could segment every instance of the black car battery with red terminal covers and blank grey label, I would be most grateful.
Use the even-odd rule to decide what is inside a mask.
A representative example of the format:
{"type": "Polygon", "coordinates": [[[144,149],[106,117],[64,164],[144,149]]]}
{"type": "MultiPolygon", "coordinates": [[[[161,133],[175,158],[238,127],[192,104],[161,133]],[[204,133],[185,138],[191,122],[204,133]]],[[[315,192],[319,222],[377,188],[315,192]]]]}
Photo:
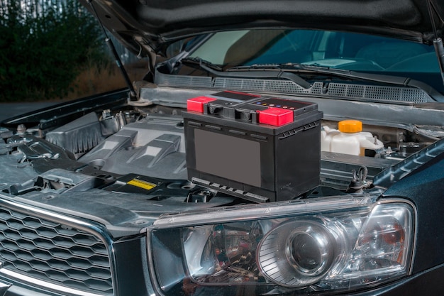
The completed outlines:
{"type": "Polygon", "coordinates": [[[293,199],[319,185],[317,104],[240,92],[187,101],[188,178],[248,199],[293,199]]]}

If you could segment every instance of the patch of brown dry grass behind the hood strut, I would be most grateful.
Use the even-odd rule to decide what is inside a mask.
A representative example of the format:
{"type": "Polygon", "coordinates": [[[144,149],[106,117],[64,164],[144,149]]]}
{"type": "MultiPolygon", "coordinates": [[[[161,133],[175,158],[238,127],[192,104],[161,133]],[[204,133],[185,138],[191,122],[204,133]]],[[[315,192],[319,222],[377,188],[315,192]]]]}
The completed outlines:
{"type": "MultiPolygon", "coordinates": [[[[141,80],[148,72],[148,62],[143,60],[125,66],[131,82],[141,80]]],[[[65,100],[77,99],[79,97],[87,97],[92,94],[101,92],[109,92],[113,89],[126,87],[125,80],[117,65],[111,63],[106,66],[94,65],[84,70],[77,79],[72,83],[71,88],[74,92],[70,92],[65,100]]]]}

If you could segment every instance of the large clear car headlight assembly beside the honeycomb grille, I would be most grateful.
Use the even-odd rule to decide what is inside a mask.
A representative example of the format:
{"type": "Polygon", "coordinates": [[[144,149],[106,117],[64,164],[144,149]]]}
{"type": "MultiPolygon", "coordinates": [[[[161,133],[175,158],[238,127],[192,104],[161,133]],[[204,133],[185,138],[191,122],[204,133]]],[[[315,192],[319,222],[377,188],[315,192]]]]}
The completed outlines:
{"type": "Polygon", "coordinates": [[[409,273],[414,208],[351,197],[261,204],[165,216],[148,235],[164,295],[344,292],[409,273]]]}

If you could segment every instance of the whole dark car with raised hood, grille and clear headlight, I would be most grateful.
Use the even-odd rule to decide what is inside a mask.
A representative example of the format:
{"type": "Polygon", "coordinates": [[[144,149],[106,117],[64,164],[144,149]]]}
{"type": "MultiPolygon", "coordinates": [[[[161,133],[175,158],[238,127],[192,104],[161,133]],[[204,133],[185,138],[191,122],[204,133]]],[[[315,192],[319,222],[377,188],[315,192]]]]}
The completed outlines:
{"type": "Polygon", "coordinates": [[[83,3],[152,67],[1,122],[0,294],[444,293],[442,1],[83,3]]]}

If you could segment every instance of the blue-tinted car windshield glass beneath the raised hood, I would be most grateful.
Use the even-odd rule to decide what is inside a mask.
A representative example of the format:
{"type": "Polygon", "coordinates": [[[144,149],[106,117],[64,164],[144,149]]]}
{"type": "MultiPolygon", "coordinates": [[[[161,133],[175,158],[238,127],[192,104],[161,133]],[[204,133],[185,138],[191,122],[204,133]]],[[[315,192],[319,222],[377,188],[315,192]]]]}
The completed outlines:
{"type": "Polygon", "coordinates": [[[443,91],[433,46],[381,36],[315,30],[216,33],[189,57],[235,66],[300,63],[411,77],[443,91]]]}

